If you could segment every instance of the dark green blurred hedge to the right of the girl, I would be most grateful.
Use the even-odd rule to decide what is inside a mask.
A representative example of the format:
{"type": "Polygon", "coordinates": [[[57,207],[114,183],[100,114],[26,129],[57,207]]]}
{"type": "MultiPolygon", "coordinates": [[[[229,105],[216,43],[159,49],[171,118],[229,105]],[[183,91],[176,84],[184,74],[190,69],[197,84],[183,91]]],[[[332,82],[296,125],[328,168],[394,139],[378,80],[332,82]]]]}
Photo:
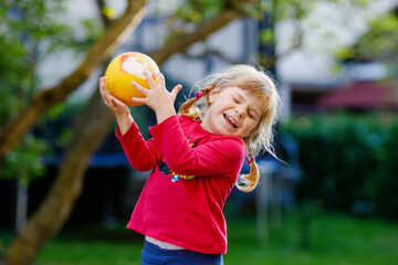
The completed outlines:
{"type": "Polygon", "coordinates": [[[282,130],[300,147],[298,201],[398,219],[398,118],[302,116],[283,124],[282,130]]]}

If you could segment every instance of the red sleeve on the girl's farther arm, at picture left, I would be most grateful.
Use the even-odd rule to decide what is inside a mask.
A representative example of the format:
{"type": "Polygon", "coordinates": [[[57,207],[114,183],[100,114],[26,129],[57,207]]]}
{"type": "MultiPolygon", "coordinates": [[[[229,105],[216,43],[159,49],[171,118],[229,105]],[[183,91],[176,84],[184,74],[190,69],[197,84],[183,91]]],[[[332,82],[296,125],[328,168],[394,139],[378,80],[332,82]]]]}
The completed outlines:
{"type": "Polygon", "coordinates": [[[161,157],[160,151],[153,139],[147,141],[144,139],[136,123],[133,123],[124,135],[121,134],[118,126],[116,126],[115,135],[134,169],[148,171],[156,167],[161,157]]]}

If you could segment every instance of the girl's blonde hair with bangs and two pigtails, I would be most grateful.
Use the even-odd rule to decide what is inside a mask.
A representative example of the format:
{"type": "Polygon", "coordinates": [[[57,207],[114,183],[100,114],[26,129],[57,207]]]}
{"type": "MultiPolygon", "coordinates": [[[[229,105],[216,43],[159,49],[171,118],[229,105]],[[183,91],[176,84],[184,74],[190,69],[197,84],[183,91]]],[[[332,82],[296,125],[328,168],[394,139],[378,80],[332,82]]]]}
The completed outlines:
{"type": "MultiPolygon", "coordinates": [[[[185,102],[179,109],[180,114],[190,118],[202,118],[210,106],[210,92],[216,87],[223,89],[231,86],[238,86],[264,99],[263,113],[258,125],[248,137],[243,138],[248,156],[254,158],[265,150],[276,158],[272,146],[273,125],[279,118],[281,99],[274,80],[262,68],[239,64],[206,77],[192,88],[192,92],[202,92],[203,96],[185,102]]],[[[250,162],[249,174],[239,177],[237,188],[250,192],[256,187],[259,178],[260,172],[253,160],[250,162]]]]}

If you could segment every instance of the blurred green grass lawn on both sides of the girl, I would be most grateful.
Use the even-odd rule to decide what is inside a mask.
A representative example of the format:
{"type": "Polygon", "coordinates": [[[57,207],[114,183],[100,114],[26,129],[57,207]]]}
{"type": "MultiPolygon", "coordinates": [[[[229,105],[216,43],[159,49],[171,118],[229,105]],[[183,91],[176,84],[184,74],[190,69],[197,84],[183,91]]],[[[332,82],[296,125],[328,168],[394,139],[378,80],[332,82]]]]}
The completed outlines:
{"type": "MultiPolygon", "coordinates": [[[[269,232],[265,244],[256,240],[254,219],[229,222],[227,265],[398,265],[398,224],[320,214],[311,226],[311,245],[300,246],[295,216],[269,232]]],[[[3,236],[1,236],[3,240],[3,236]]],[[[34,264],[140,264],[140,236],[124,230],[87,229],[61,233],[40,253],[34,264]]]]}

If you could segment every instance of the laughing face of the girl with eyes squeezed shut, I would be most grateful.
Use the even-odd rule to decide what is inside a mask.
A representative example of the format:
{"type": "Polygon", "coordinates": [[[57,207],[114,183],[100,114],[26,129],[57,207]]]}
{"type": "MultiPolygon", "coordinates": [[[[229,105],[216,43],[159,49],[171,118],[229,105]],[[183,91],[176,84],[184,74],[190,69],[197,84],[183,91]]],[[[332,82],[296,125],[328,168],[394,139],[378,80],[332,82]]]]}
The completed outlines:
{"type": "Polygon", "coordinates": [[[250,136],[260,121],[264,106],[262,98],[237,86],[212,89],[209,103],[201,127],[214,135],[240,138],[250,136]]]}

